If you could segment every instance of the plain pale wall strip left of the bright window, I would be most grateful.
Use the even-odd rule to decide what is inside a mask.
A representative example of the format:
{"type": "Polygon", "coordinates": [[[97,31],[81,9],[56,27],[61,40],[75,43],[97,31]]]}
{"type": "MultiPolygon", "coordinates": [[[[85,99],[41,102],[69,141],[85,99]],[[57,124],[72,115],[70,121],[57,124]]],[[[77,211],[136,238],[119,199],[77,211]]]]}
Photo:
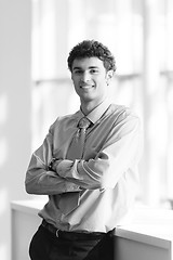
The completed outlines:
{"type": "Polygon", "coordinates": [[[26,198],[30,156],[31,0],[0,0],[0,259],[11,259],[10,202],[26,198]]]}

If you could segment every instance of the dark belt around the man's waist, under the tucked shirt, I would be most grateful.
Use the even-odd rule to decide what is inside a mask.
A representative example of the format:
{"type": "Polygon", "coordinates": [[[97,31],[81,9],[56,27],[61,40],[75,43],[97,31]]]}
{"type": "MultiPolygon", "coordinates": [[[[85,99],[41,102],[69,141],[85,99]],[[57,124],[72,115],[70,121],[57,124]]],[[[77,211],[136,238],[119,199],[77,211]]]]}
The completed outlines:
{"type": "Polygon", "coordinates": [[[95,240],[102,239],[106,233],[92,232],[92,233],[81,233],[81,232],[68,232],[56,229],[53,224],[48,223],[45,220],[42,221],[41,225],[46,229],[50,233],[54,234],[56,237],[68,239],[68,240],[95,240]]]}

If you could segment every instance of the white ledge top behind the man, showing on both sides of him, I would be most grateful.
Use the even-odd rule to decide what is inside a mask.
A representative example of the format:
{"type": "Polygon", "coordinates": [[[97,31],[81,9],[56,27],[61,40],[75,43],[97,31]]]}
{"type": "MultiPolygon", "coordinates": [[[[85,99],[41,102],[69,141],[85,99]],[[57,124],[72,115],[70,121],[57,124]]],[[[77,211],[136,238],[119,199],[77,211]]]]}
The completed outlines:
{"type": "MultiPolygon", "coordinates": [[[[37,216],[45,199],[17,200],[11,203],[14,211],[37,216]]],[[[173,242],[173,211],[148,207],[136,207],[133,220],[116,229],[117,237],[144,244],[170,248],[173,242]]]]}

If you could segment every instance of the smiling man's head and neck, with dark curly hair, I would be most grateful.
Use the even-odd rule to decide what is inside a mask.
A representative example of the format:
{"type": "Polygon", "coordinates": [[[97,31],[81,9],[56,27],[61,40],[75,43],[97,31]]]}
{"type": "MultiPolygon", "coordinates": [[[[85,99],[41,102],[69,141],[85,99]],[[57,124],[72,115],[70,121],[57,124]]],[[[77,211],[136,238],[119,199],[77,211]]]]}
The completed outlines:
{"type": "Polygon", "coordinates": [[[86,114],[106,99],[116,70],[115,58],[102,43],[85,40],[69,53],[68,67],[81,108],[86,114]]]}

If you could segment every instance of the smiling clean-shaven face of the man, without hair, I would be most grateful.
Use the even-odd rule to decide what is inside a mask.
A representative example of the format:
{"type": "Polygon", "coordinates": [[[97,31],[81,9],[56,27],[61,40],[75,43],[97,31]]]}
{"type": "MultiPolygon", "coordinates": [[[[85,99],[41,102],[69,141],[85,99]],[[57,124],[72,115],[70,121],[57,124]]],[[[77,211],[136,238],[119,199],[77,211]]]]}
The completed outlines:
{"type": "Polygon", "coordinates": [[[107,95],[107,81],[111,70],[106,72],[98,57],[76,58],[72,63],[71,79],[81,103],[93,101],[99,104],[107,95]]]}

